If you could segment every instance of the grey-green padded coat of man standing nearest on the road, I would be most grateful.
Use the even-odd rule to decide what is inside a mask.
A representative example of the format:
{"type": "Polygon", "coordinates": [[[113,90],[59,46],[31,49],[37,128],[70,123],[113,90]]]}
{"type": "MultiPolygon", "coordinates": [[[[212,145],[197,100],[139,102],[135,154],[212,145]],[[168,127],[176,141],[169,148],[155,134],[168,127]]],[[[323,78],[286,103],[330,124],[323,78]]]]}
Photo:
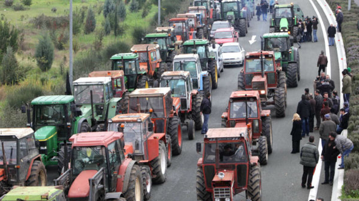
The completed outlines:
{"type": "Polygon", "coordinates": [[[319,160],[317,146],[311,142],[304,144],[300,150],[300,164],[308,167],[315,167],[319,160]]]}

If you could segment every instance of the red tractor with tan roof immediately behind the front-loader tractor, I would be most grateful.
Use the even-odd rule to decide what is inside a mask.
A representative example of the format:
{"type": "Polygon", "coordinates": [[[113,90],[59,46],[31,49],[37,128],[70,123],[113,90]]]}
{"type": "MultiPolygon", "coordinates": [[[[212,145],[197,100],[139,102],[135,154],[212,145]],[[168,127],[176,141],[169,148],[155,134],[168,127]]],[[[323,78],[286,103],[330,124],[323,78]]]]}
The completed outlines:
{"type": "Polygon", "coordinates": [[[144,200],[151,196],[152,181],[166,181],[167,166],[171,165],[171,137],[154,133],[153,128],[150,114],[145,113],[119,114],[108,121],[108,130],[123,133],[126,152],[140,165],[144,200]]]}

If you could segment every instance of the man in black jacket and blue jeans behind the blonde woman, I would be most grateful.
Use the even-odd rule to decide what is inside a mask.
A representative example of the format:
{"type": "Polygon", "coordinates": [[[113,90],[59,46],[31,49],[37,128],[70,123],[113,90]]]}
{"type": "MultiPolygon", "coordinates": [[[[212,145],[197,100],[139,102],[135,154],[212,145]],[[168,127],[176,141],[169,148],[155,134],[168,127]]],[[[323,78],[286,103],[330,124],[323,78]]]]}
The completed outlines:
{"type": "Polygon", "coordinates": [[[309,136],[309,117],[313,113],[311,104],[307,100],[307,96],[302,94],[302,100],[299,101],[297,106],[297,113],[302,119],[302,137],[309,136]]]}

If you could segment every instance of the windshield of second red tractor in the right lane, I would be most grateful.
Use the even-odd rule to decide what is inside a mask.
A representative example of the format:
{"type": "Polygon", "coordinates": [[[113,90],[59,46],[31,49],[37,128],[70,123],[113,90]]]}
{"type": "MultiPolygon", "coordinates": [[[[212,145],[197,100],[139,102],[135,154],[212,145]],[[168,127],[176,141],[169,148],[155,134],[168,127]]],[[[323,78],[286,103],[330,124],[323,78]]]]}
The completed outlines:
{"type": "MultiPolygon", "coordinates": [[[[248,118],[258,117],[257,102],[247,101],[248,118]]],[[[232,102],[230,103],[229,118],[246,118],[246,102],[232,102]]]]}

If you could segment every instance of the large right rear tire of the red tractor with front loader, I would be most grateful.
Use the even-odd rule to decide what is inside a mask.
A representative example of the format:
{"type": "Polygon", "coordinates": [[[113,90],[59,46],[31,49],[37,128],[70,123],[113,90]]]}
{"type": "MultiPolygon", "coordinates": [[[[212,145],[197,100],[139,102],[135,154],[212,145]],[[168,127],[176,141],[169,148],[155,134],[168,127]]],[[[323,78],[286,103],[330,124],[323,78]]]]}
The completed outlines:
{"type": "Polygon", "coordinates": [[[134,165],[131,169],[130,180],[127,185],[127,191],[124,192],[127,201],[143,200],[143,185],[141,170],[138,165],[134,165]]]}

